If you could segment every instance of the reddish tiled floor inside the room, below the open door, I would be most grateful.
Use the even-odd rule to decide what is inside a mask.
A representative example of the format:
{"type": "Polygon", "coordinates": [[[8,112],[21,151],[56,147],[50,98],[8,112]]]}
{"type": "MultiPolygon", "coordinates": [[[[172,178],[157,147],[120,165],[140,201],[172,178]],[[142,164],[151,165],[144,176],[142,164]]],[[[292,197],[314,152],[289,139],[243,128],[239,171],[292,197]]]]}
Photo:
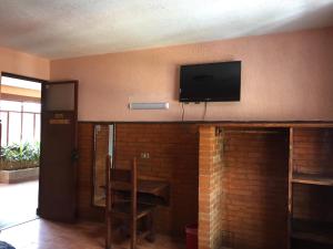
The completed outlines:
{"type": "MultiPolygon", "coordinates": [[[[80,222],[64,225],[37,219],[1,231],[0,240],[17,249],[103,249],[102,224],[80,222]]],[[[118,242],[113,249],[127,249],[128,242],[118,242]]],[[[139,249],[184,249],[184,245],[159,235],[154,243],[139,241],[139,249]]]]}

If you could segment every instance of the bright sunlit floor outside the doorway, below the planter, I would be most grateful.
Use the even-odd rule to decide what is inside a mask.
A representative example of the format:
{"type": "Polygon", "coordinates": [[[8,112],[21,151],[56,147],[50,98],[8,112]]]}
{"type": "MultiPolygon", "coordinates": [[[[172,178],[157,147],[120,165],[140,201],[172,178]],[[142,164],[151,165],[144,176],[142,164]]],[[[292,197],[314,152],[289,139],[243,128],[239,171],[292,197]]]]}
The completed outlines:
{"type": "Polygon", "coordinates": [[[0,184],[0,230],[36,219],[38,180],[0,184]]]}

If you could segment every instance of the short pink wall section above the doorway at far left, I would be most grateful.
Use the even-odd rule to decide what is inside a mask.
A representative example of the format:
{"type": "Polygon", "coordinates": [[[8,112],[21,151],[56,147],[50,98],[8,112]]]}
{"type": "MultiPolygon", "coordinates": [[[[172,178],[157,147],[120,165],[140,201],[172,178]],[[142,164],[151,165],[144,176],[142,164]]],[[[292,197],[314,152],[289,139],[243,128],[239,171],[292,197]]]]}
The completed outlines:
{"type": "Polygon", "coordinates": [[[49,80],[50,61],[28,53],[0,48],[0,72],[49,80]]]}

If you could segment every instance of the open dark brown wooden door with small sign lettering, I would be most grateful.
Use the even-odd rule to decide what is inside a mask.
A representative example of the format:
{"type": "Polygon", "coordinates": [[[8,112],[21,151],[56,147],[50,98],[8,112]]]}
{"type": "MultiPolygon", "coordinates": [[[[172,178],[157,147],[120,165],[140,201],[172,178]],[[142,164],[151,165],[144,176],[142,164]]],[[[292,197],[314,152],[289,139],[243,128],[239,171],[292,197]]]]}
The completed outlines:
{"type": "Polygon", "coordinates": [[[72,222],[77,218],[78,82],[42,85],[38,215],[72,222]]]}

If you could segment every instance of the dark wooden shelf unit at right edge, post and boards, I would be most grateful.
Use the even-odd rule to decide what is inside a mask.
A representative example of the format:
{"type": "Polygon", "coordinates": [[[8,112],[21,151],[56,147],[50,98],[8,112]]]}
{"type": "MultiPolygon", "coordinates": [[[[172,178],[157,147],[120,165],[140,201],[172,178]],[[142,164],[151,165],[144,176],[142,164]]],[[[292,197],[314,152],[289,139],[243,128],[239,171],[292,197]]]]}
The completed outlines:
{"type": "MultiPolygon", "coordinates": [[[[302,170],[302,165],[295,165],[295,157],[300,157],[300,152],[295,152],[295,129],[301,128],[302,127],[291,127],[290,128],[290,158],[289,158],[289,220],[287,220],[287,230],[289,230],[289,243],[287,243],[287,249],[301,249],[301,247],[292,247],[292,240],[299,240],[299,241],[306,241],[309,243],[315,243],[317,246],[315,246],[314,248],[322,248],[322,245],[326,245],[329,248],[333,248],[333,222],[321,222],[321,221],[315,221],[312,220],[311,217],[309,217],[309,219],[296,219],[294,218],[294,189],[295,189],[295,185],[307,185],[309,188],[312,189],[313,188],[320,188],[323,189],[325,188],[325,190],[331,191],[330,187],[332,187],[332,196],[333,196],[333,176],[332,176],[332,172],[333,172],[333,157],[330,157],[329,154],[331,153],[331,147],[332,147],[332,152],[333,152],[333,129],[331,127],[313,127],[314,131],[322,131],[323,134],[326,133],[326,135],[324,135],[325,137],[314,137],[313,139],[315,142],[313,143],[319,143],[319,141],[321,143],[325,143],[326,146],[326,151],[325,151],[325,156],[326,156],[326,160],[325,162],[325,167],[321,168],[321,165],[319,164],[317,166],[314,165],[314,160],[312,162],[306,162],[307,157],[306,154],[303,154],[304,158],[304,166],[306,167],[307,164],[311,164],[311,169],[314,169],[313,172],[320,172],[321,174],[307,174],[307,172],[311,170],[302,170]],[[329,134],[329,135],[327,135],[329,134]],[[327,137],[330,139],[330,143],[327,144],[327,137]],[[327,149],[327,146],[329,147],[327,149]],[[296,156],[295,156],[296,155],[296,156]],[[325,172],[325,169],[327,169],[326,165],[331,165],[332,162],[332,169],[329,168],[327,173],[325,172]],[[315,167],[317,167],[319,170],[315,170],[315,167]],[[324,168],[324,169],[323,169],[324,168]],[[304,172],[304,173],[303,173],[304,172]],[[305,174],[306,172],[306,174],[305,174]],[[327,188],[329,187],[329,188],[327,188]]],[[[313,133],[315,134],[315,133],[313,133]]],[[[320,132],[317,132],[317,134],[321,134],[320,132]]],[[[310,139],[311,141],[311,139],[310,139]]],[[[304,143],[304,142],[302,142],[304,143]]],[[[305,142],[311,144],[312,142],[305,142]]],[[[307,145],[309,145],[307,144],[307,145]]],[[[302,145],[304,149],[309,149],[309,146],[304,146],[302,145]]],[[[299,146],[299,149],[302,148],[302,146],[299,146]]],[[[315,147],[315,146],[314,146],[315,147]]],[[[315,149],[314,147],[310,146],[310,148],[315,149]]],[[[317,148],[321,149],[321,148],[317,148]]],[[[310,152],[310,154],[313,152],[310,152]]],[[[314,153],[315,154],[315,153],[314,153]]],[[[313,156],[313,155],[312,155],[313,156]]],[[[297,158],[299,159],[299,158],[297,158]]],[[[307,189],[309,189],[307,188],[307,189]]],[[[317,194],[320,195],[320,193],[317,194]]],[[[329,204],[327,204],[329,205],[329,204]]],[[[332,206],[333,208],[333,206],[332,206]]],[[[332,221],[332,220],[330,220],[332,221]]],[[[302,247],[303,248],[303,247],[302,247]]],[[[313,248],[313,247],[311,247],[313,248]]],[[[326,247],[325,247],[326,248],[326,247]]]]}

